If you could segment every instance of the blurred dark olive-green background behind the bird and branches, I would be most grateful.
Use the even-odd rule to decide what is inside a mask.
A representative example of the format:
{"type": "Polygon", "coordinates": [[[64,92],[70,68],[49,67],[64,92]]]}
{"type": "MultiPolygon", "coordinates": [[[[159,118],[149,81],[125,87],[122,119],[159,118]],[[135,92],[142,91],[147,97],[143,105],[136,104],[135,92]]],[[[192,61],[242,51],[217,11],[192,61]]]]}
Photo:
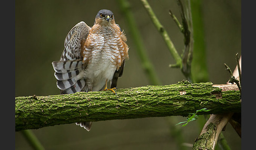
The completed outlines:
{"type": "MultiPolygon", "coordinates": [[[[162,37],[156,31],[140,1],[129,1],[140,30],[147,56],[163,85],[177,83],[185,77],[175,63],[162,37]]],[[[169,9],[180,19],[176,1],[149,1],[156,16],[168,31],[181,54],[183,35],[168,14],[169,9]]],[[[59,94],[52,61],[59,60],[64,39],[70,29],[82,20],[93,26],[100,9],[110,9],[116,23],[125,30],[130,59],[117,88],[150,84],[143,71],[129,27],[117,1],[15,1],[15,97],[59,94]]],[[[206,61],[209,80],[226,83],[236,66],[235,53],[241,54],[241,0],[202,1],[206,61]]],[[[173,126],[186,117],[151,117],[145,119],[94,122],[87,132],[75,124],[56,125],[32,130],[46,149],[178,149],[173,126]]],[[[180,126],[176,126],[180,128],[180,126]]],[[[182,127],[184,142],[192,144],[200,134],[198,122],[182,127]]],[[[241,149],[241,138],[230,124],[223,132],[231,149],[241,149]]],[[[32,149],[20,132],[15,133],[15,149],[32,149]]],[[[191,149],[191,148],[188,148],[191,149]]]]}

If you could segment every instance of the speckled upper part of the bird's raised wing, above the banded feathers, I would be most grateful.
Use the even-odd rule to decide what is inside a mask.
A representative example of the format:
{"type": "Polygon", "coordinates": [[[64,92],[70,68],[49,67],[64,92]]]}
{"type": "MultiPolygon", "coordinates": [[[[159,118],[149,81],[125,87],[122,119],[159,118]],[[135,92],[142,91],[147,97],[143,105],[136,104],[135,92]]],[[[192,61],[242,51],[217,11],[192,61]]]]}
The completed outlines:
{"type": "Polygon", "coordinates": [[[81,45],[86,41],[91,27],[84,22],[76,24],[67,34],[60,60],[81,59],[81,45]]]}

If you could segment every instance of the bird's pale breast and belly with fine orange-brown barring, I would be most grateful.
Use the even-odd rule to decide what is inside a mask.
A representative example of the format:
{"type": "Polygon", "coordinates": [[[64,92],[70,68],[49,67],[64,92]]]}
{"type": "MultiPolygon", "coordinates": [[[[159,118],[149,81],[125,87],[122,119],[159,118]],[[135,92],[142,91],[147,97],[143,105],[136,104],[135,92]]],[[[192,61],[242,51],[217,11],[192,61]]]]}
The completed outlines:
{"type": "Polygon", "coordinates": [[[87,57],[90,57],[88,58],[86,76],[93,79],[94,82],[102,79],[112,80],[115,70],[121,66],[119,46],[121,39],[117,33],[111,27],[99,27],[87,38],[91,43],[85,48],[87,57]]]}

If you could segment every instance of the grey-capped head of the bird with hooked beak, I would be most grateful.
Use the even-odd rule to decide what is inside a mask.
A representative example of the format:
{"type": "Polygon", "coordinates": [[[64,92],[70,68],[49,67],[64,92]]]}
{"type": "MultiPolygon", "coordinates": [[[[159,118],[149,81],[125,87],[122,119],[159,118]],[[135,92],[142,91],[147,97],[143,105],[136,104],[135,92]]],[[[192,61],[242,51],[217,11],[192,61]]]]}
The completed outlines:
{"type": "Polygon", "coordinates": [[[111,25],[114,23],[115,23],[114,14],[107,9],[100,10],[95,17],[95,22],[94,22],[94,24],[100,24],[103,26],[111,25]]]}

